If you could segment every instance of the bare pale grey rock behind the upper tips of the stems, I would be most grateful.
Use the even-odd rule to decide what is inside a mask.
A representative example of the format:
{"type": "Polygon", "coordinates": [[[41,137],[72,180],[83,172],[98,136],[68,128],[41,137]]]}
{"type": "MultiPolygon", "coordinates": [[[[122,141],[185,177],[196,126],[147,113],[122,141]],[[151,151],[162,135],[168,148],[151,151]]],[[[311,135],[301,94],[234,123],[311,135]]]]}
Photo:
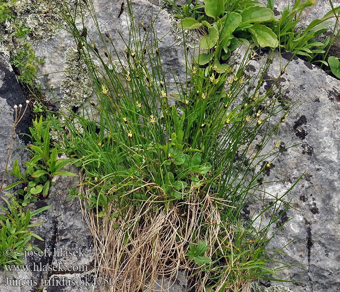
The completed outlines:
{"type": "MultiPolygon", "coordinates": [[[[109,40],[104,36],[106,31],[109,33],[112,42],[115,44],[116,50],[123,59],[126,45],[123,42],[121,36],[125,41],[129,40],[129,19],[127,19],[128,16],[126,11],[124,11],[119,18],[115,19],[113,16],[118,15],[120,2],[101,1],[99,3],[99,1],[94,1],[93,5],[94,10],[96,11],[99,29],[101,30],[102,37],[104,38],[108,49],[112,51],[113,59],[115,59],[115,53],[112,46],[109,44],[109,40]],[[119,34],[121,34],[121,36],[119,34]]],[[[127,8],[125,8],[125,10],[127,10],[127,8]]],[[[147,32],[150,33],[151,21],[154,21],[154,18],[157,16],[156,20],[154,21],[154,28],[156,28],[158,39],[157,44],[161,55],[163,70],[166,75],[165,79],[167,81],[168,91],[177,91],[176,81],[173,79],[173,74],[175,76],[178,74],[178,79],[184,80],[185,66],[183,64],[185,64],[185,55],[183,46],[173,46],[175,40],[170,34],[170,15],[146,0],[137,0],[132,2],[132,10],[135,20],[134,25],[136,26],[136,30],[138,30],[138,28],[140,29],[141,37],[144,37],[145,34],[142,29],[141,22],[145,24],[147,32]]],[[[93,39],[99,52],[102,52],[102,38],[98,35],[97,28],[90,17],[87,18],[85,27],[87,28],[87,40],[89,41],[90,39],[93,39]]],[[[55,101],[50,89],[46,85],[45,79],[58,102],[61,102],[63,99],[67,98],[67,95],[64,96],[65,90],[63,92],[60,91],[60,85],[62,82],[64,82],[65,87],[65,81],[63,81],[65,79],[65,75],[62,73],[62,71],[66,69],[64,53],[67,52],[70,47],[72,47],[74,50],[77,50],[77,44],[75,43],[73,37],[65,31],[61,32],[55,37],[51,37],[46,42],[39,42],[37,45],[34,45],[36,57],[42,58],[45,61],[45,64],[43,64],[40,68],[40,73],[38,73],[38,75],[47,75],[38,77],[38,81],[43,84],[42,89],[46,94],[46,100],[51,105],[55,105],[55,101]]],[[[143,50],[143,48],[139,49],[141,51],[143,50]]],[[[102,54],[102,57],[103,59],[107,59],[104,54],[102,54]]],[[[75,88],[71,89],[68,87],[67,91],[82,91],[83,83],[75,82],[75,84],[77,85],[75,88]]],[[[75,105],[77,105],[77,102],[75,105]]],[[[72,104],[68,104],[68,106],[71,107],[72,104]]]]}

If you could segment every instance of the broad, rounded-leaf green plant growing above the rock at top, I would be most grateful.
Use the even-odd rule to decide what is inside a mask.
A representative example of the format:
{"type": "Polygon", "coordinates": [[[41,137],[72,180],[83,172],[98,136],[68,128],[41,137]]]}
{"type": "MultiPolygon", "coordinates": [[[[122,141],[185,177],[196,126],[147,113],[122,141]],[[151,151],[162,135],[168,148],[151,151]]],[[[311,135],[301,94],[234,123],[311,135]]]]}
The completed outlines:
{"type": "MultiPolygon", "coordinates": [[[[253,39],[258,47],[276,48],[278,41],[272,30],[262,22],[274,21],[271,9],[258,5],[256,1],[234,1],[233,5],[223,0],[205,0],[205,14],[201,23],[184,18],[178,23],[179,28],[196,29],[206,27],[207,33],[200,41],[201,50],[216,49],[216,60],[226,60],[240,41],[253,39]],[[214,21],[211,22],[210,19],[214,21]]],[[[205,61],[204,61],[205,62],[205,61]]],[[[202,64],[202,62],[200,62],[202,64]]],[[[216,62],[216,65],[219,64],[216,62]]]]}

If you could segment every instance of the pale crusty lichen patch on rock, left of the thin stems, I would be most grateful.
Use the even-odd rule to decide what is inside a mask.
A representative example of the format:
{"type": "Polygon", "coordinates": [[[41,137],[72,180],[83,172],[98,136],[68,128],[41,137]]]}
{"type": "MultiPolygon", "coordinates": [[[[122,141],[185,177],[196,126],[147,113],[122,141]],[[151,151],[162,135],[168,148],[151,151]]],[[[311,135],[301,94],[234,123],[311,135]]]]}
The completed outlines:
{"type": "MultiPolygon", "coordinates": [[[[93,61],[99,68],[98,61],[93,61]]],[[[64,93],[64,98],[60,105],[63,108],[72,109],[80,107],[83,101],[91,96],[93,89],[89,81],[89,71],[84,59],[72,47],[65,52],[66,68],[65,78],[60,84],[60,92],[64,93]]]]}

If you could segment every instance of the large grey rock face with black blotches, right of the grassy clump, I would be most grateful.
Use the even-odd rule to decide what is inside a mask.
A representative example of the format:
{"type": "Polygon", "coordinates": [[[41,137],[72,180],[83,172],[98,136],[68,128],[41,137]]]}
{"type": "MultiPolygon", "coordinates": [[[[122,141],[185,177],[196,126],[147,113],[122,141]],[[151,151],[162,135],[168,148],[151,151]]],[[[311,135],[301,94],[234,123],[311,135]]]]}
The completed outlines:
{"type": "MultiPolygon", "coordinates": [[[[255,72],[259,60],[263,64],[267,58],[267,54],[259,56],[251,61],[255,72]]],[[[281,212],[276,228],[289,221],[268,248],[279,249],[295,239],[283,249],[288,256],[275,256],[276,260],[297,265],[279,272],[285,280],[299,281],[285,283],[292,291],[337,292],[340,291],[340,81],[289,52],[279,55],[275,51],[264,75],[263,92],[277,78],[275,87],[281,87],[281,99],[298,101],[298,106],[280,126],[277,139],[282,140],[281,147],[286,149],[273,161],[275,171],[268,172],[264,179],[264,182],[283,182],[265,184],[266,191],[280,197],[305,175],[285,198],[294,209],[281,212]],[[280,76],[283,68],[286,72],[280,76]],[[296,146],[289,148],[293,145],[296,146]]],[[[275,140],[276,137],[265,151],[272,149],[275,140]]],[[[255,208],[250,206],[250,214],[255,208]]]]}

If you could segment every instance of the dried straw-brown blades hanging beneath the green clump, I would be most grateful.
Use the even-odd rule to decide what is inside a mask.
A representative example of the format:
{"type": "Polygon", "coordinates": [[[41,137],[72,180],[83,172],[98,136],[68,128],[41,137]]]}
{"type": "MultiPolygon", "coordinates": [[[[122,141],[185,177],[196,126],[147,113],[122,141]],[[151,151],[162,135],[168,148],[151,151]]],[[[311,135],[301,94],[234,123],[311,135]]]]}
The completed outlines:
{"type": "Polygon", "coordinates": [[[217,201],[208,193],[203,194],[202,188],[192,187],[186,201],[164,203],[159,202],[164,200],[164,194],[157,193],[159,188],[153,183],[142,189],[148,201],[139,204],[131,201],[124,208],[109,203],[107,216],[101,219],[94,209],[86,210],[82,202],[84,218],[94,239],[98,276],[116,280],[109,292],[168,291],[178,272],[185,270],[195,274],[195,283],[187,291],[192,285],[195,291],[204,291],[210,273],[201,273],[186,254],[189,243],[197,244],[200,240],[206,240],[210,247],[206,256],[212,256],[216,246],[222,250],[218,237],[221,226],[226,224],[221,222],[219,208],[225,201],[217,201]],[[112,214],[119,215],[110,217],[112,214]],[[156,281],[168,283],[167,287],[160,287],[156,281]]]}

